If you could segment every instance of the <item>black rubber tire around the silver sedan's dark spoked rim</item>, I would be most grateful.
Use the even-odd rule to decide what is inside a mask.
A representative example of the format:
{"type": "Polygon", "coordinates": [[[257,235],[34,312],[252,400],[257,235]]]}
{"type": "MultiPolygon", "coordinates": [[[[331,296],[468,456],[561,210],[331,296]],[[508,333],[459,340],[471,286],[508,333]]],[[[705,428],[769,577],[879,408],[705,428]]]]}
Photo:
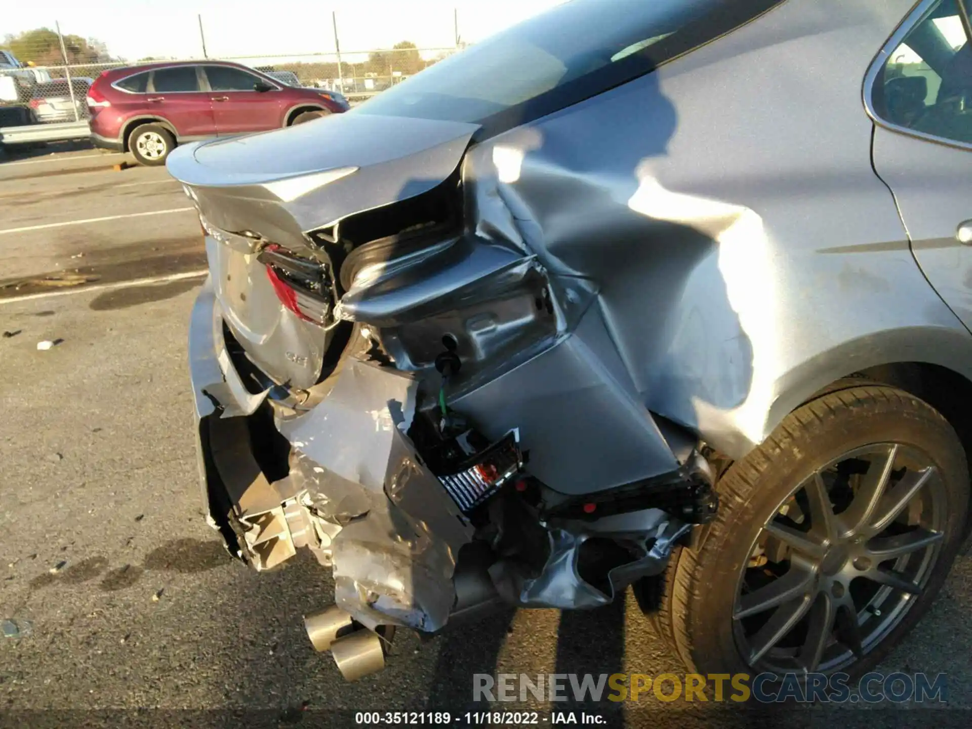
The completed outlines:
{"type": "MultiPolygon", "coordinates": [[[[834,668],[853,677],[871,670],[920,620],[934,601],[963,538],[968,514],[969,472],[952,426],[935,409],[903,391],[857,386],[813,399],[790,413],[746,459],[734,463],[716,484],[719,510],[697,551],[680,548],[666,579],[658,583],[656,627],[689,671],[753,675],[740,648],[734,620],[744,565],[763,524],[794,489],[842,454],[875,443],[914,448],[937,469],[945,499],[944,538],[923,578],[920,595],[850,665],[834,668]]],[[[922,487],[924,488],[924,487],[922,487]]],[[[918,497],[915,497],[918,498],[918,497]]],[[[645,587],[648,587],[645,585],[645,587]]],[[[650,589],[646,597],[652,597],[650,589]]],[[[829,600],[829,598],[828,598],[829,600]]],[[[881,614],[880,612],[878,613],[881,614]]],[[[760,659],[762,660],[762,659],[760,659]]],[[[827,672],[829,673],[829,672],[827,672]]]]}

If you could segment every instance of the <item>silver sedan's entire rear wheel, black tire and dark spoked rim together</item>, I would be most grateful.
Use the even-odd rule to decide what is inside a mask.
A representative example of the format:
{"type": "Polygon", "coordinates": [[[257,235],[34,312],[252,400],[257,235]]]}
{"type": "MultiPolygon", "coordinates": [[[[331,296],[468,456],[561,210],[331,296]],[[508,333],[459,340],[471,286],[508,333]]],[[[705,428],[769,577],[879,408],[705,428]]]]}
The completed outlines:
{"type": "Polygon", "coordinates": [[[673,557],[661,633],[699,674],[874,667],[955,560],[965,455],[930,405],[852,387],[790,413],[719,480],[718,516],[673,557]]]}

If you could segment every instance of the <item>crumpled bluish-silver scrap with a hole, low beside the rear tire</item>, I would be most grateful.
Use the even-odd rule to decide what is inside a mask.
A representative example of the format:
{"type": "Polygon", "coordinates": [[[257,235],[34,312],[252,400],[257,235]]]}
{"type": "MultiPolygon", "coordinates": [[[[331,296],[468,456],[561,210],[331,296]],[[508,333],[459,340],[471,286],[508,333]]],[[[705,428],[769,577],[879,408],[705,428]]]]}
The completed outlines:
{"type": "MultiPolygon", "coordinates": [[[[691,528],[659,509],[622,516],[627,522],[633,519],[641,522],[633,534],[642,540],[642,555],[608,573],[609,593],[586,582],[577,571],[581,545],[592,537],[613,535],[610,530],[599,530],[597,522],[551,525],[550,553],[537,577],[525,577],[515,564],[507,561],[494,564],[489,573],[497,591],[506,602],[524,608],[584,609],[608,605],[616,592],[639,577],[664,571],[675,542],[691,528]]],[[[623,532],[627,533],[628,529],[623,532]]]]}

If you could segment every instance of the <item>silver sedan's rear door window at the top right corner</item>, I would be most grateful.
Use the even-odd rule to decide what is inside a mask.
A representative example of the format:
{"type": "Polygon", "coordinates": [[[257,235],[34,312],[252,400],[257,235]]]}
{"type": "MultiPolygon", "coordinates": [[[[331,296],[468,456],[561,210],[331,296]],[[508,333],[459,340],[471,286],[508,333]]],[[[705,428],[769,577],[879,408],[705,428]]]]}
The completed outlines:
{"type": "Polygon", "coordinates": [[[956,0],[940,0],[888,52],[871,98],[895,126],[972,143],[972,46],[956,0]]]}

